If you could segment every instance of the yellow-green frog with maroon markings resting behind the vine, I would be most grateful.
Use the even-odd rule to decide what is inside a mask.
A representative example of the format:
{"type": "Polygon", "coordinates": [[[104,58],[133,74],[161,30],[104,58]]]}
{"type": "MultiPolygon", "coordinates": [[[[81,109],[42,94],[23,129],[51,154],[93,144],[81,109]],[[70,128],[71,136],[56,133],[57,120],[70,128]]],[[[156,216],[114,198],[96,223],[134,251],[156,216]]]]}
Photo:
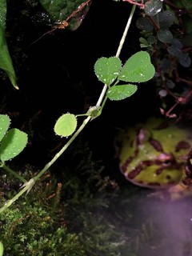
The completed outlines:
{"type": "Polygon", "coordinates": [[[166,189],[174,197],[186,188],[189,194],[189,186],[183,181],[192,130],[162,118],[150,118],[122,130],[115,145],[120,170],[128,181],[155,190],[166,189]]]}

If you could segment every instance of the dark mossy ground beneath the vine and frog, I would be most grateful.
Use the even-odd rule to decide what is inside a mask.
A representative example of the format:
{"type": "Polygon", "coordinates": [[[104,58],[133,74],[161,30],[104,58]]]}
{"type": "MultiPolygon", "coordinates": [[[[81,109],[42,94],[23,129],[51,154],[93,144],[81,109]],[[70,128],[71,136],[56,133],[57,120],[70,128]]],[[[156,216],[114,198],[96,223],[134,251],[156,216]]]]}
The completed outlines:
{"type": "MultiPolygon", "coordinates": [[[[118,175],[118,182],[105,176],[102,162],[93,160],[88,146],[84,145],[83,152],[81,147],[75,146],[73,163],[61,166],[59,162],[29,194],[2,212],[4,255],[170,255],[165,252],[174,248],[175,235],[165,228],[170,217],[163,214],[169,204],[147,199],[149,190],[118,180],[118,175]]],[[[35,172],[34,166],[26,166],[22,176],[29,179],[35,172]]],[[[1,172],[1,205],[19,186],[1,172]]],[[[183,220],[185,215],[186,210],[183,220]]],[[[175,229],[181,229],[177,225],[175,229]]],[[[183,255],[191,253],[189,237],[178,238],[183,255]]]]}

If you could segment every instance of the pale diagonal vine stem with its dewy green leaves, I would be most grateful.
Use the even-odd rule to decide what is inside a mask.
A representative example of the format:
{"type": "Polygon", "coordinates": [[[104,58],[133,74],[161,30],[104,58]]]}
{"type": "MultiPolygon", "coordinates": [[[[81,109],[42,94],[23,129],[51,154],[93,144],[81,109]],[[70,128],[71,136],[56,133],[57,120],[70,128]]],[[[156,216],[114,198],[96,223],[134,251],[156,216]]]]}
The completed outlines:
{"type": "MultiPolygon", "coordinates": [[[[2,206],[2,208],[0,209],[0,213],[2,213],[4,210],[10,207],[13,204],[13,202],[15,202],[18,198],[22,196],[22,194],[24,194],[25,192],[30,192],[35,182],[37,182],[37,180],[42,177],[42,174],[44,174],[46,170],[48,170],[50,166],[52,166],[54,162],[57,161],[57,159],[63,154],[63,152],[66,151],[68,146],[70,146],[70,144],[74,142],[74,139],[78,137],[78,134],[82,132],[85,126],[91,120],[93,120],[94,118],[98,118],[98,116],[102,114],[102,109],[106,104],[107,98],[109,98],[110,100],[122,100],[124,98],[128,98],[132,94],[134,94],[138,88],[136,84],[133,84],[133,82],[146,82],[153,78],[154,66],[151,64],[150,55],[147,52],[140,51],[134,54],[127,60],[124,66],[122,66],[122,63],[118,58],[121,54],[122,46],[125,42],[126,35],[130,28],[130,23],[134,16],[135,7],[135,5],[132,6],[130,16],[126,23],[126,28],[122,35],[122,39],[119,43],[115,57],[100,58],[94,65],[94,71],[98,77],[98,80],[104,83],[102,92],[98,98],[98,102],[96,103],[96,105],[90,107],[86,114],[64,114],[60,118],[58,118],[58,121],[54,126],[55,133],[58,134],[59,136],[66,137],[72,134],[73,135],[71,136],[71,138],[69,138],[68,142],[66,142],[66,145],[63,146],[62,149],[59,150],[58,153],[54,155],[54,158],[52,158],[52,160],[48,162],[46,166],[44,166],[44,168],[34,178],[31,178],[29,181],[26,181],[24,178],[18,176],[18,174],[16,174],[14,170],[11,170],[9,167],[6,166],[5,162],[7,160],[10,160],[10,158],[2,158],[2,155],[4,154],[5,150],[3,150],[1,154],[0,147],[0,167],[2,167],[2,169],[8,171],[10,174],[13,174],[16,178],[19,178],[20,180],[22,180],[22,182],[24,182],[24,184],[22,185],[22,190],[20,190],[18,194],[14,196],[14,198],[10,199],[8,202],[6,202],[4,206],[2,206]],[[127,84],[125,82],[129,83],[127,84]],[[78,130],[76,130],[78,125],[77,117],[82,115],[85,115],[86,118],[82,122],[82,125],[78,127],[78,130]]],[[[2,118],[5,117],[3,116],[2,118]]],[[[6,136],[7,135],[5,135],[5,138],[6,136]]],[[[20,132],[19,136],[26,137],[26,134],[20,132]]],[[[12,142],[8,143],[8,141],[5,138],[2,138],[2,142],[3,140],[5,140],[5,142],[3,143],[4,148],[7,148],[6,152],[7,154],[10,154],[10,151],[14,152],[13,149],[15,149],[15,145],[13,145],[12,142]]],[[[17,151],[19,153],[26,146],[26,138],[25,142],[22,142],[22,140],[18,138],[16,138],[16,141],[19,142],[19,149],[17,151]],[[22,143],[22,145],[20,142],[22,143]]],[[[11,154],[11,158],[13,158],[13,154],[11,154]]]]}

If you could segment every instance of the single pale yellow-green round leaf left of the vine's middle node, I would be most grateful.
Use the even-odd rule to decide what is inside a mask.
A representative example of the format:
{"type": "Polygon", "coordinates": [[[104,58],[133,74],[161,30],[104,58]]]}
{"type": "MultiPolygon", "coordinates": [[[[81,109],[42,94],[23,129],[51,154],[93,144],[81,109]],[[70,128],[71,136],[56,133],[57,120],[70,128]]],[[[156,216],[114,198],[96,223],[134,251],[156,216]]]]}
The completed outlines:
{"type": "Polygon", "coordinates": [[[78,125],[77,119],[74,114],[63,114],[55,123],[54,132],[59,136],[70,136],[76,130],[78,125]]]}

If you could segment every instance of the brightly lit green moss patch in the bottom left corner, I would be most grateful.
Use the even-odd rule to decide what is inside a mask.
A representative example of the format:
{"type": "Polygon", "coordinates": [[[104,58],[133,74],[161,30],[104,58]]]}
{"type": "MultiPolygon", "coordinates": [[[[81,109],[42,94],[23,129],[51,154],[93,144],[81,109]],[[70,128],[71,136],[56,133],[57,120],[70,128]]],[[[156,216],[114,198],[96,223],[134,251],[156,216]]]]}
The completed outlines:
{"type": "Polygon", "coordinates": [[[62,218],[60,189],[61,184],[54,188],[52,182],[39,182],[26,198],[2,212],[0,240],[5,255],[85,255],[78,234],[68,232],[62,218]]]}

